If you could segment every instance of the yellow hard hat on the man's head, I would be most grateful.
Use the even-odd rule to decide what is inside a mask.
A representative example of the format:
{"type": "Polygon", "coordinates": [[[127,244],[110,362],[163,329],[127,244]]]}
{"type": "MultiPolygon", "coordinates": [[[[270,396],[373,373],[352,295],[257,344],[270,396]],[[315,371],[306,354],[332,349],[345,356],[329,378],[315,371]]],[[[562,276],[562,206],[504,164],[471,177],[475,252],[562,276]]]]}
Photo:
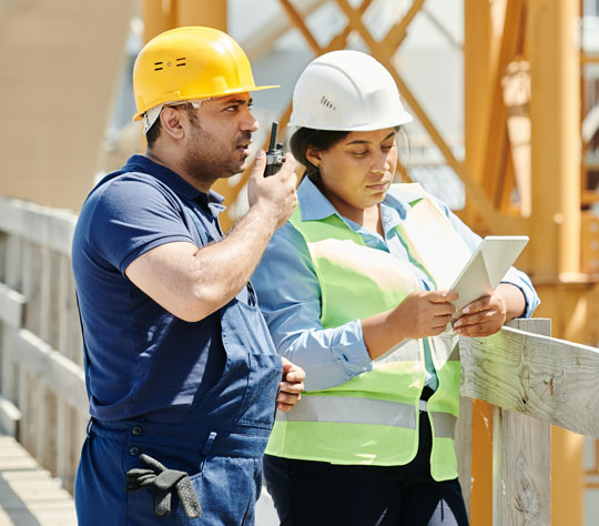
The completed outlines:
{"type": "Polygon", "coordinates": [[[202,27],[172,29],[150,40],[135,60],[133,120],[165,103],[270,88],[278,85],[255,85],[247,57],[229,34],[202,27]]]}

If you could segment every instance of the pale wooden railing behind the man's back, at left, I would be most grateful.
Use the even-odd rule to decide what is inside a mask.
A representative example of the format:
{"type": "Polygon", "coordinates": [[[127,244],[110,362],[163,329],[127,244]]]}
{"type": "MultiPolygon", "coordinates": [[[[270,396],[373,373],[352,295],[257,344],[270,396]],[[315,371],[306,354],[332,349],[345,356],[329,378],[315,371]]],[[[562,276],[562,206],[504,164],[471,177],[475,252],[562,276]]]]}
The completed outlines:
{"type": "Polygon", "coordinates": [[[0,424],[70,490],[88,422],[75,221],[0,198],[0,424]]]}

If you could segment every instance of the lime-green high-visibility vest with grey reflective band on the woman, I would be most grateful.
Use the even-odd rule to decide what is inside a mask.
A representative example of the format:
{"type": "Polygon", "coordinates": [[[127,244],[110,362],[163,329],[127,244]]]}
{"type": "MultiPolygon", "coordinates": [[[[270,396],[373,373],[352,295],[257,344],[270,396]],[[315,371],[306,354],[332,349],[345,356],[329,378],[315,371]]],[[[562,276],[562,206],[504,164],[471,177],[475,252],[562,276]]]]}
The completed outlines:
{"type": "MultiPolygon", "coordinates": [[[[418,184],[392,185],[414,194],[396,226],[413,262],[437,285],[450,286],[470,251],[449,220],[418,184]]],[[[405,199],[405,198],[404,198],[405,199]]],[[[324,328],[388,311],[418,290],[414,269],[365,245],[341,218],[290,219],[306,241],[322,292],[324,328]]],[[[430,473],[457,477],[454,428],[459,411],[460,365],[455,335],[430,337],[438,388],[428,399],[433,429],[430,473]]],[[[277,412],[266,453],[287,458],[353,465],[403,465],[418,451],[418,414],[424,386],[424,342],[407,340],[365,372],[336,387],[304,392],[290,413],[277,412]]]]}

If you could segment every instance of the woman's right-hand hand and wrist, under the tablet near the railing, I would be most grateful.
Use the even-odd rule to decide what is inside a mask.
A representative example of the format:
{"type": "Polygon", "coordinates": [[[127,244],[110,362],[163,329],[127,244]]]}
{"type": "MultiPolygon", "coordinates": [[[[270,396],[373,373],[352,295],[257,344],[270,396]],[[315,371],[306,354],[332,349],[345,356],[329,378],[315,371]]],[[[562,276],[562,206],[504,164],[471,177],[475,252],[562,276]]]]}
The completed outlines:
{"type": "Polygon", "coordinates": [[[522,292],[509,283],[500,283],[490,296],[484,296],[466,305],[454,330],[461,336],[490,336],[508,320],[524,313],[526,301],[522,292]]]}

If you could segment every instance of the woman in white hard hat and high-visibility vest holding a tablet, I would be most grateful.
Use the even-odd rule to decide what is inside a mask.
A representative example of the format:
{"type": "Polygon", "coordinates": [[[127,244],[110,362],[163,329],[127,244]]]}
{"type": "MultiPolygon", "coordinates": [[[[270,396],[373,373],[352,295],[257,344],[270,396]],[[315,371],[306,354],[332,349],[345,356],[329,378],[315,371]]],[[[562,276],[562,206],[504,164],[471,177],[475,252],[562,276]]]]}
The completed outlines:
{"type": "Polygon", "coordinates": [[[307,176],[253,280],[277,352],[306,371],[264,459],[284,525],[466,525],[455,333],[493,334],[539,302],[511,269],[445,331],[457,293],[440,284],[480,237],[419,185],[392,184],[410,121],[389,72],[357,51],[315,59],[295,87],[307,176]]]}

